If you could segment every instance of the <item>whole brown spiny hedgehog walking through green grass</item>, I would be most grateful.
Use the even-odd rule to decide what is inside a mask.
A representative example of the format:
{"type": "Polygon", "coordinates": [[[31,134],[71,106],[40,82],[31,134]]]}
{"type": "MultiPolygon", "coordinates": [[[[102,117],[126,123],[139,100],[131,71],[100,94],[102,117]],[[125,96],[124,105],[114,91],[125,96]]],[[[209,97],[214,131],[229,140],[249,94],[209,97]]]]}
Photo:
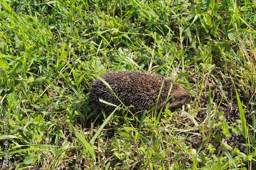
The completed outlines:
{"type": "Polygon", "coordinates": [[[169,109],[176,109],[190,102],[190,95],[183,87],[160,75],[140,71],[110,71],[101,77],[116,96],[100,80],[94,81],[90,98],[96,112],[104,110],[110,113],[115,109],[99,99],[117,106],[122,102],[132,113],[148,111],[154,106],[159,110],[167,104],[169,109]]]}

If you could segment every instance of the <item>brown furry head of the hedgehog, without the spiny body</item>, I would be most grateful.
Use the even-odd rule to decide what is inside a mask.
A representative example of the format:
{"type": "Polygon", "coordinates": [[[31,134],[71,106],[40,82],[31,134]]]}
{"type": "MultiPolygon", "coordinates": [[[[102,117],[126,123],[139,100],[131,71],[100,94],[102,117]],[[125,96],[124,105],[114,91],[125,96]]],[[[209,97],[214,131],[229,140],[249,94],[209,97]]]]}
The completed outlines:
{"type": "Polygon", "coordinates": [[[183,87],[175,85],[174,88],[175,90],[172,90],[174,95],[169,100],[168,108],[170,109],[178,108],[191,100],[190,95],[183,87]]]}

